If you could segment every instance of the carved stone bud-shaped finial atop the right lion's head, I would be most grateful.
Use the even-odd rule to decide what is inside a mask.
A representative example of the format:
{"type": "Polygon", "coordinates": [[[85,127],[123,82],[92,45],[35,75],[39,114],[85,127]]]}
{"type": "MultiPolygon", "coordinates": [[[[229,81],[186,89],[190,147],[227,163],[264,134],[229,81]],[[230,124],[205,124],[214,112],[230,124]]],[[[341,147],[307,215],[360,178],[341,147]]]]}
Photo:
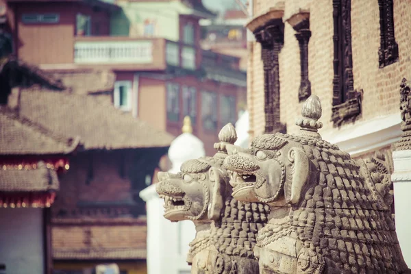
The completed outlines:
{"type": "Polygon", "coordinates": [[[301,127],[300,135],[321,139],[320,134],[317,132],[318,129],[323,127],[323,123],[318,121],[323,114],[319,97],[316,95],[308,97],[303,103],[301,114],[303,117],[295,121],[295,124],[301,127]]]}

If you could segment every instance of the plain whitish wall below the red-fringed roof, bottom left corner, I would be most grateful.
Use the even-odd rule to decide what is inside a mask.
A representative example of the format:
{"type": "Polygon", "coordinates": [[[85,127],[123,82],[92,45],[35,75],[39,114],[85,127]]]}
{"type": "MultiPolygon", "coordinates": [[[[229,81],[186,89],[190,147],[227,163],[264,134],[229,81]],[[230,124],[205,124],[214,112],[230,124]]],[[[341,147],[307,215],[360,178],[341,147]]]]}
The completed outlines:
{"type": "Polygon", "coordinates": [[[0,208],[0,264],[6,274],[45,273],[42,209],[0,208]]]}

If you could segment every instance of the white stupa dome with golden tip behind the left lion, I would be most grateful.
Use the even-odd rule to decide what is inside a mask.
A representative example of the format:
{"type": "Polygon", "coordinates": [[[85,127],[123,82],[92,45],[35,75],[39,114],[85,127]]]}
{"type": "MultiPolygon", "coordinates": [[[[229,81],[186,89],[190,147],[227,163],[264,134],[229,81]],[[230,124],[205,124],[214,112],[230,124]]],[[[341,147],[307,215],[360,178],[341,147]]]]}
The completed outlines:
{"type": "Polygon", "coordinates": [[[173,164],[170,172],[179,172],[180,166],[187,160],[197,159],[206,155],[204,143],[192,135],[191,120],[189,116],[184,117],[182,134],[171,142],[169,148],[169,159],[173,164]]]}

